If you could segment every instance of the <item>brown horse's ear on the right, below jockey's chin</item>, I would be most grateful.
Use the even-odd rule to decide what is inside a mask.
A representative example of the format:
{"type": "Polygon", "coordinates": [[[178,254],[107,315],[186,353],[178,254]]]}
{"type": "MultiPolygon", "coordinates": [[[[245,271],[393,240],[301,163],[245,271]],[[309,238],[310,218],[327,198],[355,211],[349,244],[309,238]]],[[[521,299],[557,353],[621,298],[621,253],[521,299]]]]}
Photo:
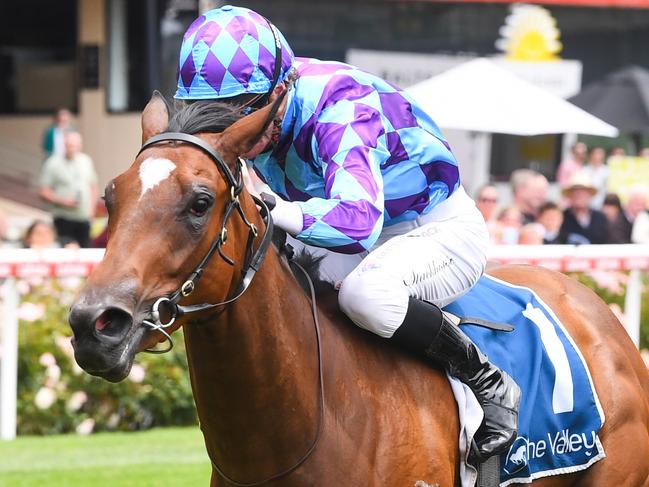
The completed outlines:
{"type": "Polygon", "coordinates": [[[243,117],[223,131],[217,149],[226,160],[239,157],[254,147],[273,122],[284,96],[286,90],[272,104],[243,117]]]}

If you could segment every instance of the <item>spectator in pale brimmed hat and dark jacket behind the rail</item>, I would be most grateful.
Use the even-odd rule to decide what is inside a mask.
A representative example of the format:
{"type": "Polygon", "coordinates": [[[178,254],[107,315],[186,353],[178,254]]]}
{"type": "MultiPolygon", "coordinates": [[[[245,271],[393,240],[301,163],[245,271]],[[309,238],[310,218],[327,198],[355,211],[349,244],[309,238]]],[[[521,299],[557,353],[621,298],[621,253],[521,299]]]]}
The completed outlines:
{"type": "Polygon", "coordinates": [[[583,171],[573,174],[570,183],[563,189],[568,207],[563,212],[563,224],[559,241],[565,244],[606,243],[608,222],[604,213],[590,207],[590,201],[597,193],[588,174],[583,171]]]}

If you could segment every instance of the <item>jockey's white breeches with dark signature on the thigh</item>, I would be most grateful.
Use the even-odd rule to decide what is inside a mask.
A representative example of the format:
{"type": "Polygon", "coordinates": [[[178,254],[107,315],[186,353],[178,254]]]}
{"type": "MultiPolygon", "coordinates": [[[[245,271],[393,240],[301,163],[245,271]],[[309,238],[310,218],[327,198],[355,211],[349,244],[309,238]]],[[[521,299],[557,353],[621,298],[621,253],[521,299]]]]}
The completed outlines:
{"type": "Polygon", "coordinates": [[[361,328],[389,338],[403,323],[410,297],[442,307],[471,289],[484,272],[488,245],[482,215],[459,188],[427,215],[386,227],[369,253],[308,249],[324,255],[322,277],[342,280],[343,312],[361,328]]]}

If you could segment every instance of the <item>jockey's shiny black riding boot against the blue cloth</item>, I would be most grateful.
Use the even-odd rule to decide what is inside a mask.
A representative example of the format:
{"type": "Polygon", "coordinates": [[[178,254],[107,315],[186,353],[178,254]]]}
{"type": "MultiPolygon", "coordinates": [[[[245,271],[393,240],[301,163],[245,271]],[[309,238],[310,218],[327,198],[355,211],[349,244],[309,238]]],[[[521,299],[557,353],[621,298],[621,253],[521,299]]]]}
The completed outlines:
{"type": "Polygon", "coordinates": [[[484,410],[484,420],[474,438],[477,451],[472,451],[473,461],[483,462],[509,448],[518,428],[518,385],[490,363],[437,306],[410,298],[403,324],[391,340],[441,365],[476,395],[484,410]]]}

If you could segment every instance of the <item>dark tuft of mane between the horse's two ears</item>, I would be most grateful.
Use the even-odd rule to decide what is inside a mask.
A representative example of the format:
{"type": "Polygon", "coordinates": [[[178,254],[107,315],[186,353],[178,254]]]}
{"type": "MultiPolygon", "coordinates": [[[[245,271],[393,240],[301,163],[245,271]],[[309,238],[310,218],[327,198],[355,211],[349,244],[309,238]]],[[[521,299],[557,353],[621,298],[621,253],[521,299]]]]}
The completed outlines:
{"type": "Polygon", "coordinates": [[[190,135],[223,132],[244,115],[240,107],[215,100],[200,100],[175,108],[167,131],[190,135]]]}

